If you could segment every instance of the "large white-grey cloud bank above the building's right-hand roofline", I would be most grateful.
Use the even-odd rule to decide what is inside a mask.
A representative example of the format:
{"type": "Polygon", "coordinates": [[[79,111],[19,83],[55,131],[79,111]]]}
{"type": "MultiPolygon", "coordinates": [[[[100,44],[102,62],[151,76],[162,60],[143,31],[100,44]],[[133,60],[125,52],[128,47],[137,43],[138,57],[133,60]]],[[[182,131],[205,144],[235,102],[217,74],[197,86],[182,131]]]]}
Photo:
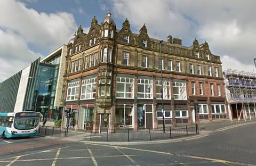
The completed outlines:
{"type": "MultiPolygon", "coordinates": [[[[212,53],[220,55],[223,68],[250,70],[256,47],[256,1],[122,1],[113,0],[119,18],[128,18],[139,30],[146,23],[150,37],[166,39],[167,34],[181,37],[191,45],[196,37],[206,40],[212,53]],[[224,56],[226,55],[226,56],[224,56]],[[228,57],[228,58],[227,58],[228,57]]],[[[251,71],[251,70],[250,70],[251,71]]]]}

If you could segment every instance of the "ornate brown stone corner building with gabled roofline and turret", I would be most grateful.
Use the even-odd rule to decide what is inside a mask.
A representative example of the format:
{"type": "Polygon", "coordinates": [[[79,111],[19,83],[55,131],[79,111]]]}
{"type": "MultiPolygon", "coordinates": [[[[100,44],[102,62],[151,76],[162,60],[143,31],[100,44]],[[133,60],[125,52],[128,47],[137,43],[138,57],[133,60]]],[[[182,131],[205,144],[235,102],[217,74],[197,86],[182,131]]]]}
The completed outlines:
{"type": "Polygon", "coordinates": [[[63,127],[95,132],[162,127],[161,67],[166,126],[192,124],[194,102],[200,120],[228,119],[220,57],[206,42],[195,39],[186,47],[168,36],[160,44],[145,24],[139,34],[127,19],[116,29],[108,13],[101,24],[94,16],[88,34],[78,28],[66,57],[63,104],[72,113],[70,121],[63,114],[63,127]]]}

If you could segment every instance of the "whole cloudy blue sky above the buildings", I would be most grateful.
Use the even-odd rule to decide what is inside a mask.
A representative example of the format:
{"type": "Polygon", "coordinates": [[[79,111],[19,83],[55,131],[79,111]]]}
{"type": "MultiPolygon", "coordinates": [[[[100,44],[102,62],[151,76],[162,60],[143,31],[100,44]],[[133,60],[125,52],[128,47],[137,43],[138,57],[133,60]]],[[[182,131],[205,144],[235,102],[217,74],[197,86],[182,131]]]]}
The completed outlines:
{"type": "Polygon", "coordinates": [[[117,29],[127,18],[139,33],[146,24],[151,38],[181,38],[182,45],[207,41],[221,57],[223,70],[256,72],[256,1],[244,0],[0,0],[0,82],[38,57],[63,44],[93,16],[98,23],[108,11],[117,29]]]}

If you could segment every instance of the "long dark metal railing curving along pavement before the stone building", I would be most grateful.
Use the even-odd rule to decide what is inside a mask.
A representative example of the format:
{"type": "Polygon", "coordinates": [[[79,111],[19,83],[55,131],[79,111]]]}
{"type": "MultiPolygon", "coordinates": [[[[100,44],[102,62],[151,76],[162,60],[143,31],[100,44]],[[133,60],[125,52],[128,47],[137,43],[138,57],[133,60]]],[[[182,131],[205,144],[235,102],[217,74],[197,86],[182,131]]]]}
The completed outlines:
{"type": "Polygon", "coordinates": [[[179,137],[188,137],[196,135],[198,129],[196,126],[182,126],[177,128],[147,129],[134,131],[134,129],[125,130],[101,130],[100,133],[93,133],[91,130],[91,141],[106,141],[106,142],[132,142],[135,140],[160,140],[172,139],[179,137]]]}

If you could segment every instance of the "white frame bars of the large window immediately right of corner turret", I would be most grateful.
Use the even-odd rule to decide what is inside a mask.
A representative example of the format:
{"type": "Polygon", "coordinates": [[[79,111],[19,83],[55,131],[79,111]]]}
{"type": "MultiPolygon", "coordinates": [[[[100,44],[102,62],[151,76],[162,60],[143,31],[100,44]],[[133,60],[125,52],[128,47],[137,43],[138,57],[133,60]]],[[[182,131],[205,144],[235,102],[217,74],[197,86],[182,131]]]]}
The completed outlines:
{"type": "Polygon", "coordinates": [[[128,77],[116,77],[116,87],[117,84],[124,84],[124,92],[117,91],[116,88],[116,98],[134,98],[134,78],[128,78],[128,77]],[[122,81],[124,80],[124,81],[122,81]],[[126,92],[126,86],[128,84],[132,84],[132,92],[126,92]],[[117,93],[124,94],[124,97],[117,97],[117,93]],[[125,97],[126,94],[131,94],[131,97],[125,97]]]}

